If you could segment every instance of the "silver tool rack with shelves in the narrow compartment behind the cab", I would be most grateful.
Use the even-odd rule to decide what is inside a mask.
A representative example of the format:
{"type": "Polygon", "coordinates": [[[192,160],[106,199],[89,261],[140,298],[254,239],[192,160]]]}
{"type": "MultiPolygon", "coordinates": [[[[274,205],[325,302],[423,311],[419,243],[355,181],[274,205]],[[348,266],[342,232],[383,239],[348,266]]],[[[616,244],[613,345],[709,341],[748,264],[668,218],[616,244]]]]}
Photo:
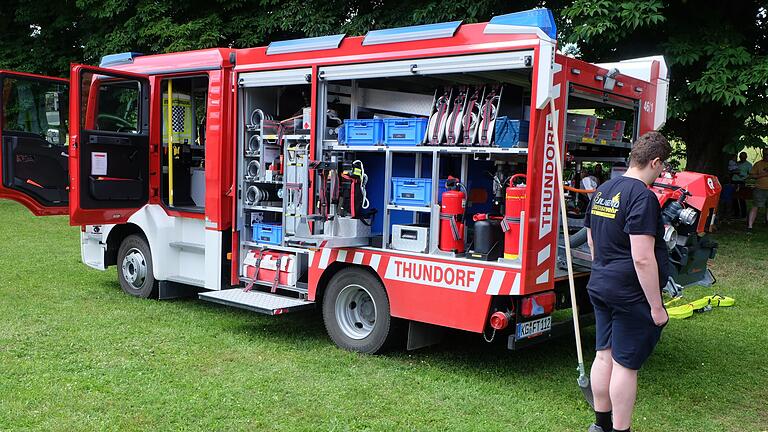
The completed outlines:
{"type": "MultiPolygon", "coordinates": [[[[252,74],[261,78],[259,73],[252,74]]],[[[264,82],[256,77],[242,78],[239,82],[238,115],[238,157],[236,224],[240,233],[239,271],[240,279],[246,283],[269,285],[253,280],[242,274],[243,260],[249,251],[280,251],[292,254],[296,259],[299,278],[296,286],[279,285],[280,289],[307,292],[306,271],[308,250],[291,245],[296,228],[308,211],[309,192],[309,143],[308,131],[290,130],[284,133],[279,112],[281,87],[306,84],[301,80],[287,82],[264,82]],[[275,119],[277,118],[277,119],[275,119]],[[272,164],[282,161],[282,174],[272,164]],[[256,169],[254,170],[254,163],[256,169]],[[270,169],[268,169],[268,167],[270,169]],[[262,187],[265,200],[252,202],[248,192],[253,186],[262,187]],[[282,235],[279,241],[254,239],[254,215],[261,215],[263,221],[274,224],[282,235]]]]}

